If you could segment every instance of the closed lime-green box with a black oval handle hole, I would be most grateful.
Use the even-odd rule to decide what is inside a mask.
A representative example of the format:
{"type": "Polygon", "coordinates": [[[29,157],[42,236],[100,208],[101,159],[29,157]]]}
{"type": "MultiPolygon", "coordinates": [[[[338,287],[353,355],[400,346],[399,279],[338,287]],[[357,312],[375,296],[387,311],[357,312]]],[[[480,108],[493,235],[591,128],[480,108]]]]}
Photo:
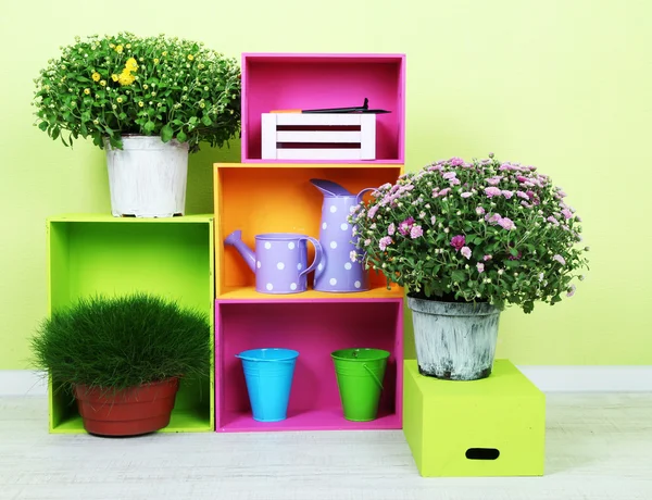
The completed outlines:
{"type": "Polygon", "coordinates": [[[452,382],[403,364],[403,432],[422,476],[541,476],[546,397],[507,360],[452,382]]]}

